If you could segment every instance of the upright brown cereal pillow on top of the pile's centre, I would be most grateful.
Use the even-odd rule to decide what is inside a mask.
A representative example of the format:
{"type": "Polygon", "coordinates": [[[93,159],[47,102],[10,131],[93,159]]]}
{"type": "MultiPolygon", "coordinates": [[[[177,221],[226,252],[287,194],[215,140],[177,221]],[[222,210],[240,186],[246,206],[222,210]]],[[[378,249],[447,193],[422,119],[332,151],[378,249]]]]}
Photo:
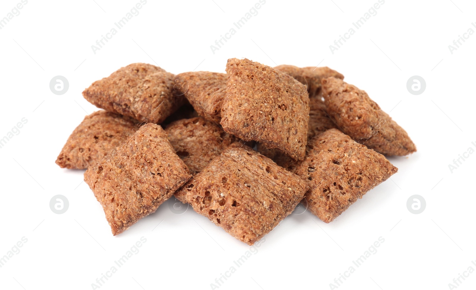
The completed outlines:
{"type": "Polygon", "coordinates": [[[223,130],[302,160],[309,121],[306,87],[284,72],[247,59],[229,59],[227,73],[223,130]]]}

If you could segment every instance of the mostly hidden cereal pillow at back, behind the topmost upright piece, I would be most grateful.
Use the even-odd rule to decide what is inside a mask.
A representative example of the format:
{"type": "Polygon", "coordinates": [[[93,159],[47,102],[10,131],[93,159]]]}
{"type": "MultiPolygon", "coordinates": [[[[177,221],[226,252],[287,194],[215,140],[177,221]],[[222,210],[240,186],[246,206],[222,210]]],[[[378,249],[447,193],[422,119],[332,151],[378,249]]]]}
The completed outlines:
{"type": "Polygon", "coordinates": [[[298,68],[294,65],[278,65],[275,70],[280,70],[295,78],[307,87],[309,98],[317,96],[321,89],[321,80],[328,77],[344,79],[344,76],[328,67],[305,67],[298,68]]]}

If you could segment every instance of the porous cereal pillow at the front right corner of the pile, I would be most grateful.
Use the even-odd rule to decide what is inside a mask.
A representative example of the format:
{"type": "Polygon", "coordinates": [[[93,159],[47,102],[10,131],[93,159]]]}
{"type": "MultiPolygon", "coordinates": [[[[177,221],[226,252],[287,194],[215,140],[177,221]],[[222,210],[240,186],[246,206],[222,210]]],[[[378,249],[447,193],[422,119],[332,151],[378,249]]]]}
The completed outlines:
{"type": "Polygon", "coordinates": [[[327,223],[398,170],[337,129],[314,137],[307,146],[310,150],[294,172],[309,185],[307,209],[327,223]]]}

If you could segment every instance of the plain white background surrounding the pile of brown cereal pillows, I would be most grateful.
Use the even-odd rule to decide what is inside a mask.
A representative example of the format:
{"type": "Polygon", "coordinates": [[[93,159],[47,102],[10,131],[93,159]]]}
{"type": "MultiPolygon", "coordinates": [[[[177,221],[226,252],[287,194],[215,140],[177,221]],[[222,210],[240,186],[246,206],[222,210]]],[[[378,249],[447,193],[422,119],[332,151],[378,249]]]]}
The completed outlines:
{"type": "MultiPolygon", "coordinates": [[[[19,2],[2,0],[0,18],[19,2]]],[[[458,273],[476,270],[476,154],[453,173],[448,168],[469,147],[476,149],[476,35],[453,54],[448,49],[476,22],[474,1],[386,0],[332,54],[329,45],[377,0],[267,0],[213,54],[210,45],[258,0],[148,0],[94,54],[91,45],[137,2],[29,0],[0,30],[0,137],[28,120],[0,149],[0,256],[28,239],[0,268],[1,289],[92,289],[141,237],[147,242],[139,253],[101,290],[212,289],[210,283],[231,266],[236,271],[219,289],[330,289],[379,237],[385,242],[377,253],[354,266],[339,290],[448,289],[458,273]],[[417,153],[390,158],[398,173],[330,224],[307,211],[290,215],[239,268],[233,261],[248,245],[191,208],[174,213],[170,201],[113,237],[82,182],[83,170],[54,163],[71,131],[97,110],[81,92],[132,62],[173,73],[224,72],[233,57],[338,70],[407,130],[417,153]],[[63,95],[50,91],[57,75],[69,80],[63,95]],[[421,95],[407,91],[414,75],[426,80],[421,95]],[[64,214],[50,210],[57,194],[69,200],[64,214]],[[421,214],[407,210],[414,194],[426,200],[421,214]]],[[[461,281],[458,290],[475,289],[476,272],[461,281]]]]}

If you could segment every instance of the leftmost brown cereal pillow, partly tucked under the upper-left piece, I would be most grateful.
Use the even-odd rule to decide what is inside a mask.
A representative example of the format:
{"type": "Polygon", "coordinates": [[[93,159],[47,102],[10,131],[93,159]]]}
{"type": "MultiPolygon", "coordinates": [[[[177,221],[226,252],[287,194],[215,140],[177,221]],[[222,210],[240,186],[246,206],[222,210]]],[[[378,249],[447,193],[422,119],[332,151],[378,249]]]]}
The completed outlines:
{"type": "Polygon", "coordinates": [[[61,168],[86,169],[139,129],[139,121],[104,110],[86,116],[56,159],[61,168]]]}

